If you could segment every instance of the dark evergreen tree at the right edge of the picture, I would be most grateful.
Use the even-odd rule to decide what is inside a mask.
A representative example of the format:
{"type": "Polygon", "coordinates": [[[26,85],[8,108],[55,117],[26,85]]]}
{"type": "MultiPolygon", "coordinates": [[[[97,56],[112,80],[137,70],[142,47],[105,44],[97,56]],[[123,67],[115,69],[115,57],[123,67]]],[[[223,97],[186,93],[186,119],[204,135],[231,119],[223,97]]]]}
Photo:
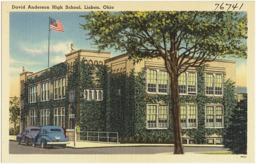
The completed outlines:
{"type": "Polygon", "coordinates": [[[224,135],[225,147],[234,154],[247,154],[247,95],[237,103],[230,122],[224,135]]]}

